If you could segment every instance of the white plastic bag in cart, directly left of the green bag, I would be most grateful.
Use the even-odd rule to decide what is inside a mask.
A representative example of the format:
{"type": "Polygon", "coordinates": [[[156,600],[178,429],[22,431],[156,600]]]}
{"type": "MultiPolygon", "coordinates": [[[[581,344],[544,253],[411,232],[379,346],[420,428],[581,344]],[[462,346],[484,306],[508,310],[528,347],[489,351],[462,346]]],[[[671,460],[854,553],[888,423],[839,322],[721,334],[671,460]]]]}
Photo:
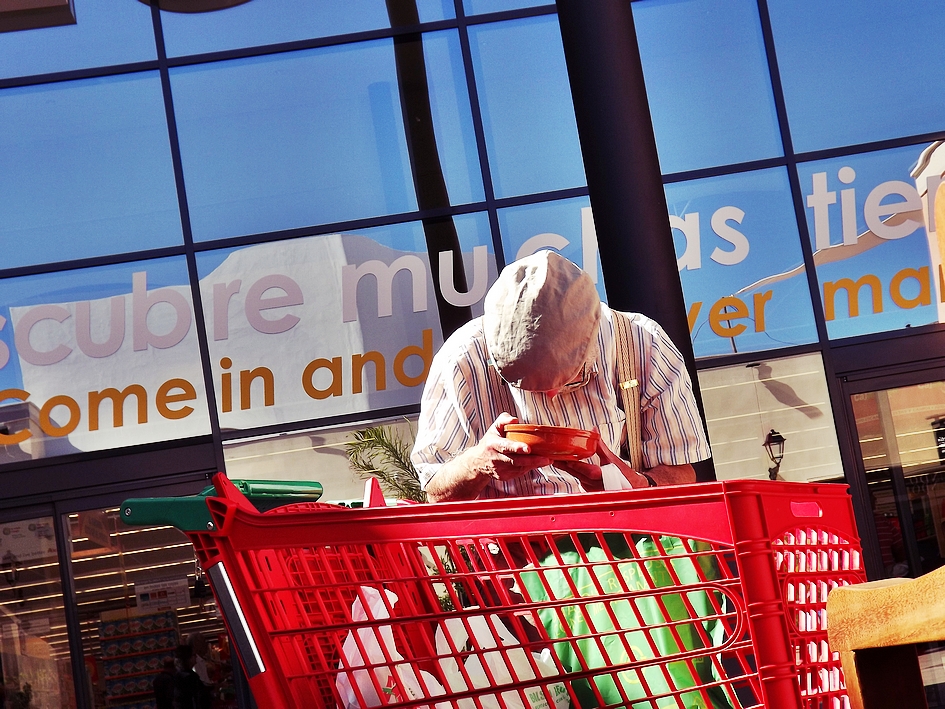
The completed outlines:
{"type": "MultiPolygon", "coordinates": [[[[475,654],[466,657],[463,661],[463,667],[473,689],[535,679],[535,671],[529,661],[528,651],[521,647],[499,616],[495,614],[467,616],[466,622],[473,634],[472,647],[475,654]],[[488,651],[491,648],[498,648],[500,645],[506,649],[488,651]],[[483,662],[489,667],[492,679],[486,673],[483,662]]],[[[463,619],[447,618],[444,625],[446,633],[449,634],[452,640],[452,647],[457,650],[466,647],[469,642],[469,633],[466,631],[463,619]]],[[[443,632],[443,626],[437,628],[436,631],[436,654],[441,658],[439,661],[440,673],[446,682],[447,690],[454,693],[469,689],[459,668],[458,661],[451,656],[452,649],[443,632]]],[[[532,659],[542,677],[553,677],[558,674],[558,669],[551,659],[551,651],[547,648],[541,654],[532,653],[532,659]]],[[[480,696],[479,700],[483,709],[564,709],[569,706],[570,697],[562,683],[549,684],[547,689],[554,702],[550,705],[545,693],[537,687],[526,690],[526,701],[523,701],[522,696],[517,691],[502,692],[498,696],[495,694],[484,695],[480,696]]],[[[472,709],[476,705],[472,699],[463,699],[457,703],[457,706],[463,709],[466,707],[472,709]]]]}

